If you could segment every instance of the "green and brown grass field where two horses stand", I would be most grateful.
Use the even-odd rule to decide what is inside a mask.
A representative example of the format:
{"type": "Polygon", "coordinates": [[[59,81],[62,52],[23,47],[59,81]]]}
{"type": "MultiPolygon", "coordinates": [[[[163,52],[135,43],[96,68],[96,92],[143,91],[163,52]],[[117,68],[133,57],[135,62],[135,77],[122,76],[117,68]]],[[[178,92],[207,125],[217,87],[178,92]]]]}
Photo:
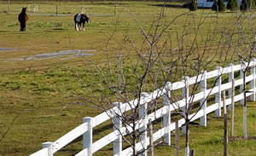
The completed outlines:
{"type": "MultiPolygon", "coordinates": [[[[41,149],[43,142],[54,142],[82,123],[84,117],[94,117],[101,113],[84,103],[90,92],[79,83],[75,74],[82,78],[84,84],[94,88],[97,78],[95,69],[90,68],[89,61],[95,61],[99,66],[107,65],[107,45],[110,61],[116,61],[120,44],[125,36],[129,36],[139,47],[143,43],[143,36],[137,22],[132,19],[125,9],[128,9],[144,30],[148,32],[158,19],[160,2],[115,2],[119,6],[114,16],[114,3],[84,2],[86,14],[90,14],[90,24],[85,32],[75,32],[73,15],[81,12],[80,2],[59,2],[58,16],[55,15],[55,2],[39,1],[38,12],[32,12],[32,1],[15,1],[8,3],[0,1],[0,155],[28,155],[41,149]],[[28,7],[26,32],[20,32],[17,16],[21,7],[28,7]],[[122,7],[125,7],[123,9],[122,7]],[[114,33],[113,33],[114,32],[114,33]],[[108,39],[113,38],[108,42],[108,39]],[[107,44],[108,43],[108,44],[107,44]],[[56,57],[35,57],[35,55],[51,54],[63,50],[89,50],[84,57],[61,55],[56,57]]],[[[170,47],[177,46],[177,36],[186,29],[195,29],[201,20],[198,36],[199,45],[203,45],[206,34],[212,32],[218,24],[221,30],[234,27],[230,23],[236,21],[236,13],[218,14],[209,9],[199,9],[190,13],[188,9],[177,8],[183,3],[168,3],[165,9],[164,26],[178,14],[184,14],[166,30],[166,35],[160,40],[164,43],[170,38],[170,47]],[[176,6],[176,7],[175,7],[176,6]]],[[[254,13],[253,13],[254,14],[254,13]]],[[[251,19],[254,22],[254,18],[251,19]]],[[[245,24],[246,25],[246,24],[245,24]]],[[[247,28],[248,31],[250,28],[247,28]]],[[[213,37],[212,37],[213,38],[213,37]]],[[[188,38],[185,42],[191,42],[188,38]]],[[[218,43],[216,43],[218,44],[218,43]]],[[[214,49],[215,44],[212,45],[214,49]]],[[[131,47],[127,47],[131,49],[131,47]]],[[[128,54],[125,54],[128,55],[128,54]]],[[[131,54],[136,55],[131,50],[131,54]]],[[[215,66],[213,66],[214,68],[215,66]]],[[[103,67],[104,69],[104,67],[103,67]]],[[[247,104],[248,136],[256,136],[256,103],[247,104]]],[[[242,136],[242,107],[236,107],[235,136],[242,136]]],[[[207,127],[200,127],[198,123],[191,124],[190,148],[195,155],[222,155],[223,153],[223,118],[208,117],[207,127]]],[[[110,124],[102,125],[102,130],[110,124]]],[[[97,131],[97,138],[106,135],[109,130],[97,131]]],[[[172,145],[174,136],[172,137],[172,145]]],[[[181,136],[180,146],[184,136],[181,136]]],[[[238,140],[228,145],[229,155],[255,155],[256,143],[253,140],[238,140]]],[[[78,142],[64,147],[55,155],[73,155],[82,148],[80,138],[78,142]]],[[[173,147],[156,147],[155,155],[174,155],[173,147]]],[[[111,155],[111,146],[103,148],[95,155],[111,155]]],[[[180,151],[183,154],[183,151],[180,151]]]]}

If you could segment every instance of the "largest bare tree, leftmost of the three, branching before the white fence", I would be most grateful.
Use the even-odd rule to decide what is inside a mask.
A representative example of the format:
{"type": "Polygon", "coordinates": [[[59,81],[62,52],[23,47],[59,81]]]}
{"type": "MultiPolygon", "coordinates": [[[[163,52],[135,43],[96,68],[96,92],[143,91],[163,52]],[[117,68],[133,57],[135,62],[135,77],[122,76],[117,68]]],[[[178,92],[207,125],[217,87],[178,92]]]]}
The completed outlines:
{"type": "MultiPolygon", "coordinates": [[[[148,107],[141,109],[142,104],[145,103],[143,96],[147,95],[143,92],[156,90],[163,85],[159,84],[159,81],[162,77],[160,74],[165,74],[166,72],[163,65],[167,56],[165,51],[171,51],[166,48],[166,41],[160,40],[162,40],[164,32],[168,27],[183,14],[177,15],[171,21],[165,21],[166,26],[161,27],[160,20],[162,16],[160,15],[152,22],[148,32],[146,32],[137,18],[129,10],[125,9],[125,11],[137,22],[142,33],[142,37],[139,37],[142,42],[139,43],[138,47],[133,38],[125,34],[125,37],[118,43],[117,53],[112,55],[108,47],[111,46],[110,42],[115,39],[116,29],[114,30],[106,46],[106,64],[108,67],[104,69],[102,66],[97,66],[96,62],[91,61],[96,66],[97,72],[100,73],[103,83],[97,84],[99,90],[91,90],[93,97],[88,98],[90,101],[87,99],[87,102],[102,109],[102,111],[107,111],[114,107],[113,101],[128,103],[129,107],[131,107],[130,112],[124,113],[123,109],[118,107],[119,113],[113,113],[121,120],[125,129],[127,129],[125,130],[127,136],[124,136],[124,140],[132,147],[133,155],[137,155],[148,150],[147,145],[142,143],[143,150],[137,152],[137,142],[145,140],[145,136],[147,137],[146,131],[148,130],[148,128],[141,127],[137,129],[137,127],[143,122],[148,122],[143,118],[151,110],[158,107],[157,101],[151,101],[148,103],[148,107]],[[96,101],[91,101],[91,99],[96,101]],[[131,101],[132,99],[137,99],[137,101],[131,101]]],[[[118,26],[118,20],[116,26],[118,26]]],[[[175,60],[177,59],[171,62],[171,66],[174,66],[175,60]]]]}

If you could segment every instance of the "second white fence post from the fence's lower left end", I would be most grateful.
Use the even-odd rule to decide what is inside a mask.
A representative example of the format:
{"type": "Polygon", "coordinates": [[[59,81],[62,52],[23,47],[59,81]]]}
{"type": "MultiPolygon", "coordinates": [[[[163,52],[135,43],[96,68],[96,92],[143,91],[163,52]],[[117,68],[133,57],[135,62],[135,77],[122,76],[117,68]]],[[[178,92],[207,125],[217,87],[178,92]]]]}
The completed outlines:
{"type": "Polygon", "coordinates": [[[84,123],[87,123],[88,130],[83,135],[83,149],[87,149],[87,155],[92,155],[92,118],[83,118],[84,123]]]}

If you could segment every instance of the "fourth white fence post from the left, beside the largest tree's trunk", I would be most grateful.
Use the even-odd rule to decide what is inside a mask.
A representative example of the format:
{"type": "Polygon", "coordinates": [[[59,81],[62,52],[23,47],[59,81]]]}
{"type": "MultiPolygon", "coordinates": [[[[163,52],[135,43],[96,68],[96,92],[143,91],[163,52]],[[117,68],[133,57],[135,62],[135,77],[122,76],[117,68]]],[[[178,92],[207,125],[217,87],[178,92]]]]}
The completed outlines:
{"type": "Polygon", "coordinates": [[[140,142],[145,149],[145,152],[142,154],[143,156],[147,156],[147,112],[148,112],[148,104],[145,102],[144,98],[147,96],[147,93],[142,93],[140,106],[139,106],[139,118],[143,119],[142,123],[139,125],[139,132],[140,132],[140,142]]]}

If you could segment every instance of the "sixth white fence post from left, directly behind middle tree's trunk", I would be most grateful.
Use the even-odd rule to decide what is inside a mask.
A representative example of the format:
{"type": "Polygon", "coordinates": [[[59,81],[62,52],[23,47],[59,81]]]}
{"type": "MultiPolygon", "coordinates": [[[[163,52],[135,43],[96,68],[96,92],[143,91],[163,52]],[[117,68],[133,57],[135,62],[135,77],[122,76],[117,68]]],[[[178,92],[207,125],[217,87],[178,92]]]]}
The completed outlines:
{"type": "MultiPolygon", "coordinates": [[[[185,107],[183,107],[184,113],[187,113],[187,111],[188,111],[187,109],[189,107],[189,82],[188,82],[188,79],[189,79],[189,77],[186,77],[186,76],[184,76],[182,78],[182,80],[185,84],[185,87],[182,89],[182,97],[185,100],[185,107]]],[[[183,135],[185,135],[186,134],[186,126],[185,125],[182,127],[182,131],[183,131],[183,135]]]]}

